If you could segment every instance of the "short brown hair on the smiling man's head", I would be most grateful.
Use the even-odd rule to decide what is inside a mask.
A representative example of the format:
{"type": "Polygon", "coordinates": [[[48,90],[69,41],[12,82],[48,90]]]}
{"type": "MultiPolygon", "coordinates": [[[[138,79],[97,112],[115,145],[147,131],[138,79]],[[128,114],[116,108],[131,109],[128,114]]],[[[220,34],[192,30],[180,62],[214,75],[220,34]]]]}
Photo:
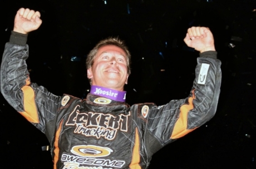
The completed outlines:
{"type": "Polygon", "coordinates": [[[130,68],[131,54],[130,54],[125,42],[123,40],[120,40],[117,37],[116,38],[109,37],[109,38],[103,39],[99,43],[97,43],[96,46],[87,55],[86,68],[87,69],[91,68],[91,66],[94,63],[94,58],[95,58],[95,55],[97,54],[98,50],[101,47],[104,47],[106,45],[115,45],[116,47],[119,47],[122,50],[124,50],[124,52],[126,54],[127,74],[130,75],[131,74],[131,68],[130,68]]]}

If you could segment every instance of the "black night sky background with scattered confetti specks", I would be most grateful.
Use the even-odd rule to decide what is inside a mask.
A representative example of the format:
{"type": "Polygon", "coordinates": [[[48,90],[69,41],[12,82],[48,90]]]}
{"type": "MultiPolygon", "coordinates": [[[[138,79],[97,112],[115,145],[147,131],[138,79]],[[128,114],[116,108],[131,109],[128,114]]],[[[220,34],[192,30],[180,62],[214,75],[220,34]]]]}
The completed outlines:
{"type": "MultiPolygon", "coordinates": [[[[101,39],[119,36],[132,54],[127,103],[188,96],[198,52],[183,39],[192,26],[209,27],[223,80],[216,115],[152,157],[149,168],[256,168],[256,1],[46,0],[1,1],[1,53],[16,11],[41,12],[28,36],[31,79],[53,94],[85,98],[87,53],[101,39]],[[231,44],[230,44],[231,43],[231,44]],[[144,58],[144,59],[142,59],[144,58]]],[[[52,168],[48,141],[0,97],[0,168],[52,168]]]]}

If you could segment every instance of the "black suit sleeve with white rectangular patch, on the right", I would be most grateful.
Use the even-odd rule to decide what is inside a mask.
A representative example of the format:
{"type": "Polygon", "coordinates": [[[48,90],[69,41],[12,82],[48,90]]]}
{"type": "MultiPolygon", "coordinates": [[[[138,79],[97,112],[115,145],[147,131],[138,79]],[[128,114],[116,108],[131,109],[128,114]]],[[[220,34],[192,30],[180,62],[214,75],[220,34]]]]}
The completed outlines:
{"type": "Polygon", "coordinates": [[[215,51],[200,54],[188,98],[171,100],[149,110],[147,129],[161,146],[188,134],[214,116],[221,84],[221,62],[216,54],[215,51]]]}

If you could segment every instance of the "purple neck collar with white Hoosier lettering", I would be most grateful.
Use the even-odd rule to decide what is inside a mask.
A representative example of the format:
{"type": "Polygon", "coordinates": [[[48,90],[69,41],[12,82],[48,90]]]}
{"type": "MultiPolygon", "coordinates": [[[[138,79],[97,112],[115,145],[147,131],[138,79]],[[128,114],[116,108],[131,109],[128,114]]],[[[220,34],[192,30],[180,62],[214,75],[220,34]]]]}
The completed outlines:
{"type": "Polygon", "coordinates": [[[101,86],[91,85],[91,94],[102,96],[107,99],[125,102],[126,91],[104,88],[101,86]]]}

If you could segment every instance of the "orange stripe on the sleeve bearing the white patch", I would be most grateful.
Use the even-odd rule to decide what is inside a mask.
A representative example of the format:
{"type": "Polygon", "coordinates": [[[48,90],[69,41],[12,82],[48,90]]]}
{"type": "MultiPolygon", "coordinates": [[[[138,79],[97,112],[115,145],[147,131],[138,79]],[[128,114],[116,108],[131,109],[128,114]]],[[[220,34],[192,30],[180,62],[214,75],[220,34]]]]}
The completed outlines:
{"type": "Polygon", "coordinates": [[[173,134],[171,135],[170,139],[178,139],[196,129],[196,128],[190,129],[190,130],[186,129],[186,127],[188,126],[189,111],[194,108],[194,105],[193,105],[193,100],[195,99],[194,91],[195,90],[192,91],[193,96],[189,98],[189,104],[188,105],[185,104],[180,107],[180,117],[176,121],[176,124],[173,129],[173,134]]]}

